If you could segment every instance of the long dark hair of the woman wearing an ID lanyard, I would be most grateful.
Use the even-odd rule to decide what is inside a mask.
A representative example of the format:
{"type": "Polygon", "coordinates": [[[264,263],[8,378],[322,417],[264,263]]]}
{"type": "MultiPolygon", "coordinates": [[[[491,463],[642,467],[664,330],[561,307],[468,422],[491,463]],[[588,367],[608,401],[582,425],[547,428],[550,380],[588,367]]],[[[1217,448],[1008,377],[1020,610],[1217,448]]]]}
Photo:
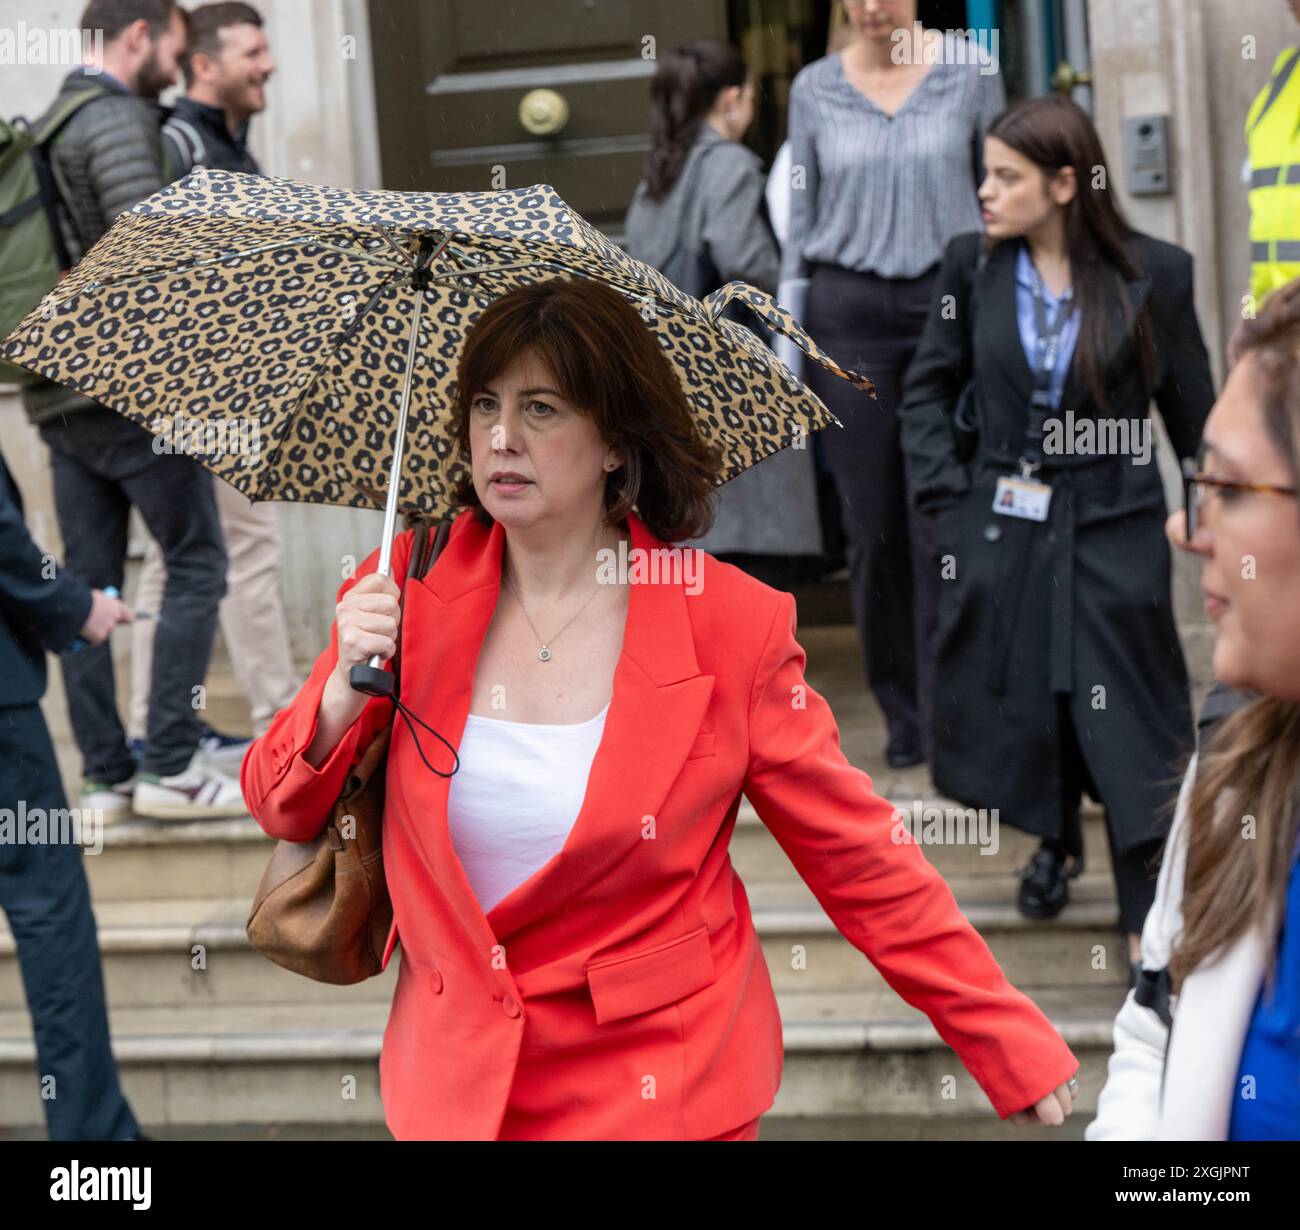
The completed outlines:
{"type": "MultiPolygon", "coordinates": [[[[1138,359],[1148,389],[1156,382],[1150,313],[1143,304],[1135,319],[1121,280],[1140,276],[1124,251],[1135,234],[1115,203],[1101,138],[1088,113],[1060,94],[1024,99],[1004,111],[985,137],[996,137],[1034,163],[1044,176],[1074,168],[1078,191],[1065,207],[1070,282],[1079,308],[1078,360],[1098,410],[1106,404],[1104,384],[1106,311],[1118,300],[1124,328],[1136,334],[1138,359]],[[1101,186],[1095,177],[1101,173],[1101,186]]],[[[1188,306],[1190,309],[1190,306],[1188,306]]]]}

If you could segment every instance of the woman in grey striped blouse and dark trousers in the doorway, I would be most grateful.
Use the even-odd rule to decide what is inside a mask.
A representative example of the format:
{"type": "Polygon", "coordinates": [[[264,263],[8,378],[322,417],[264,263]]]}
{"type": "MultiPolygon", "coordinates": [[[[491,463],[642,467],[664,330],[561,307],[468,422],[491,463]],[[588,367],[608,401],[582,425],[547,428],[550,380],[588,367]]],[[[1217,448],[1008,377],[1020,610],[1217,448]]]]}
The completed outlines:
{"type": "MultiPolygon", "coordinates": [[[[805,328],[879,400],[816,371],[844,424],[820,434],[842,511],[854,618],[892,767],[930,744],[939,573],[906,499],[902,373],[948,241],[980,228],[984,129],[1005,105],[994,60],[924,30],[915,0],[845,0],[852,40],[790,87],[790,233],[781,280],[807,277],[805,328]]],[[[810,368],[815,367],[810,364],[810,368]]]]}

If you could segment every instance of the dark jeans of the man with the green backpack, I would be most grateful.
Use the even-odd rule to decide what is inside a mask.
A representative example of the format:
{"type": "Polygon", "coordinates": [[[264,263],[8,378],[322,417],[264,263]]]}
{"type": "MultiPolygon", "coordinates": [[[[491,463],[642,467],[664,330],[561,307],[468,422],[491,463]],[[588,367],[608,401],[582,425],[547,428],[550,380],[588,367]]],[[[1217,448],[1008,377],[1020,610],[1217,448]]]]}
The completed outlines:
{"type": "MultiPolygon", "coordinates": [[[[122,588],[131,504],[162,547],[166,589],[153,637],[146,772],[178,774],[199,745],[194,700],[207,675],[226,590],[212,476],[192,458],[157,454],[153,437],[107,407],[43,424],[53,463],[64,562],[87,585],[122,588]]],[[[116,783],[135,762],[117,713],[109,645],[62,654],[68,714],[87,778],[116,783]]]]}

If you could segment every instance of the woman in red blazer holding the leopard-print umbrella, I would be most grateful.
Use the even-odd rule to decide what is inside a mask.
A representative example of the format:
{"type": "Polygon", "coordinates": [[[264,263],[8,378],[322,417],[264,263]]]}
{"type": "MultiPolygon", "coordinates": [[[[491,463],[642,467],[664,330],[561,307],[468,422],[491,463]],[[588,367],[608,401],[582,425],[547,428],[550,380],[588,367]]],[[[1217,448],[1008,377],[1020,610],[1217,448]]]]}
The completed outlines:
{"type": "MultiPolygon", "coordinates": [[[[270,836],[315,837],[390,713],[351,692],[348,670],[390,657],[399,633],[403,702],[465,755],[472,713],[540,723],[528,733],[541,737],[608,702],[576,818],[499,796],[507,822],[564,836],[486,913],[448,824],[452,757],[394,724],[384,961],[399,935],[403,958],[380,1057],[393,1134],[754,1139],[784,1052],[728,857],[742,793],[997,1114],[1062,1122],[1078,1061],[924,854],[892,840],[892,805],[845,759],[803,677],[793,597],[702,551],[679,550],[676,575],[636,571],[703,532],[720,464],[637,312],[588,281],[512,291],[467,337],[458,390],[465,508],[410,584],[400,629],[376,553],[341,586],[329,649],[242,771],[270,836]],[[620,558],[625,575],[593,576],[620,558]]],[[[407,532],[395,577],[410,550],[407,532]]],[[[511,763],[489,767],[511,781],[511,763]]]]}

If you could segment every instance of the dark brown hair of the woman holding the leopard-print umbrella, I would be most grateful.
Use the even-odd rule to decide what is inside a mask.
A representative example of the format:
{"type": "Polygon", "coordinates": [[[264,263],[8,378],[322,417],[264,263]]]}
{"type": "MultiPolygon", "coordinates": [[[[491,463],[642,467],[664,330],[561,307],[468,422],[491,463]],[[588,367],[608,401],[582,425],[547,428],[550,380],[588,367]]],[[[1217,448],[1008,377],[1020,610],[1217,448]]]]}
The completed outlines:
{"type": "Polygon", "coordinates": [[[452,421],[467,472],[452,501],[491,524],[471,472],[471,402],[528,351],[624,458],[604,482],[610,524],[634,508],[663,542],[706,533],[715,516],[722,446],[701,434],[672,365],[636,308],[620,291],[589,278],[555,277],[508,291],[469,329],[456,367],[452,421]]]}

